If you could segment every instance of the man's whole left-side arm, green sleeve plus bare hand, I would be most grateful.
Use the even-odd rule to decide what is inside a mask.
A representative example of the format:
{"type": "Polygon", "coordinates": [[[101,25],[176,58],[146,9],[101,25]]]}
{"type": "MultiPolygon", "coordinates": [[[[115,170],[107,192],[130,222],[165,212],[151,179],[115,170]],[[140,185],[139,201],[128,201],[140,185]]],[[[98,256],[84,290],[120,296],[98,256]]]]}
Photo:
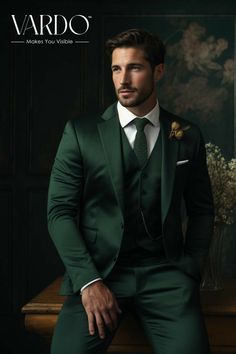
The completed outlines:
{"type": "Polygon", "coordinates": [[[73,122],[66,124],[52,168],[48,192],[48,230],[66,267],[75,293],[82,291],[89,333],[105,337],[121,313],[112,292],[100,275],[77,227],[77,213],[83,191],[83,164],[73,122]]]}

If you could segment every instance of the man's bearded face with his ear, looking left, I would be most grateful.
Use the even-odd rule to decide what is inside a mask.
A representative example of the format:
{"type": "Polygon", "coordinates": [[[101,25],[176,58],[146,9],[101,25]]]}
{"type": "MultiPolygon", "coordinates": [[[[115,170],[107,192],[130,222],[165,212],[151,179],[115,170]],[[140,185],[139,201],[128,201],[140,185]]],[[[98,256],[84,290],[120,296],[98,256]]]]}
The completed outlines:
{"type": "Polygon", "coordinates": [[[160,65],[152,70],[140,48],[122,47],[113,51],[112,79],[117,98],[124,107],[156,102],[155,86],[160,77],[160,65]]]}

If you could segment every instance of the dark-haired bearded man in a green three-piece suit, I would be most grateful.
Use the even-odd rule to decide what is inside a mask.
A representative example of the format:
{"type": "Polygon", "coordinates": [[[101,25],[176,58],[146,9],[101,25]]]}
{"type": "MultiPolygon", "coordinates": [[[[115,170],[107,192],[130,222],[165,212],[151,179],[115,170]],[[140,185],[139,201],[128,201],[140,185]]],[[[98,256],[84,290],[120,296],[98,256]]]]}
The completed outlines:
{"type": "Polygon", "coordinates": [[[155,353],[206,354],[199,284],[214,211],[202,135],[158,104],[155,35],[122,32],[107,51],[118,103],[67,123],[51,174],[48,225],[68,295],[51,351],[105,352],[132,308],[155,353]]]}

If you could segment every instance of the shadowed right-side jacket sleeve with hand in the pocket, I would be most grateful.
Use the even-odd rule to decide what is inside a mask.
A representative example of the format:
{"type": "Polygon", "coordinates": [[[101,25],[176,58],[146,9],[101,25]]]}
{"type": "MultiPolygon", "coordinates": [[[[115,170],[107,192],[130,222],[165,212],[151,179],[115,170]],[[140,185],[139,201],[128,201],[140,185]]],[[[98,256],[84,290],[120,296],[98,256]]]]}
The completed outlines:
{"type": "Polygon", "coordinates": [[[214,206],[205,143],[200,132],[184,198],[188,216],[185,252],[195,258],[202,271],[213,234],[214,206]]]}

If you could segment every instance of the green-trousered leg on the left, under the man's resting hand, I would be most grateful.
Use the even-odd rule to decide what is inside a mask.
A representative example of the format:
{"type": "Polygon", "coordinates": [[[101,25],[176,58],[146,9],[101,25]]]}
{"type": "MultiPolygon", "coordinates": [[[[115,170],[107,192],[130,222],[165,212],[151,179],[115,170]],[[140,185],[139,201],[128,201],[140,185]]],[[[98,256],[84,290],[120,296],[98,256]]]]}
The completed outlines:
{"type": "MultiPolygon", "coordinates": [[[[116,268],[104,283],[114,293],[122,314],[118,315],[118,325],[122,320],[129,297],[134,295],[135,276],[132,269],[116,268]]],[[[54,330],[51,354],[100,354],[105,353],[115,332],[106,330],[105,339],[96,332],[91,336],[88,319],[79,295],[68,296],[54,330]]]]}

